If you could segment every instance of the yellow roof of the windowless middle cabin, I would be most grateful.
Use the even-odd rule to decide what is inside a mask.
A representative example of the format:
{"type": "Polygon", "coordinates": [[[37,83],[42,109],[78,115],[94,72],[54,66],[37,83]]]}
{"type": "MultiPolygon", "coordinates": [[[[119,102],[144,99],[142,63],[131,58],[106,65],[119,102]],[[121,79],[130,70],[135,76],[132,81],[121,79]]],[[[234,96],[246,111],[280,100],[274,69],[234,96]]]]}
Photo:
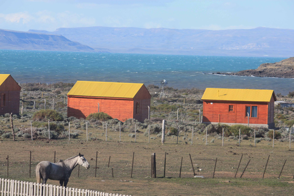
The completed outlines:
{"type": "Polygon", "coordinates": [[[134,98],[144,84],[77,81],[67,95],[134,98]]]}

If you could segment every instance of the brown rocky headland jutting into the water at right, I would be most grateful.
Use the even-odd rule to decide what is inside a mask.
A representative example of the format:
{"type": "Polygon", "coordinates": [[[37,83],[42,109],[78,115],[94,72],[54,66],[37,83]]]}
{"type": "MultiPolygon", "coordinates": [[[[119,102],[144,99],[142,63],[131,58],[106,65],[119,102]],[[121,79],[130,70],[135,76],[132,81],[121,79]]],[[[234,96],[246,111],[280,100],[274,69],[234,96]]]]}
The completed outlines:
{"type": "Polygon", "coordinates": [[[216,73],[225,75],[294,78],[294,57],[275,63],[263,63],[257,69],[249,69],[236,73],[216,73]]]}

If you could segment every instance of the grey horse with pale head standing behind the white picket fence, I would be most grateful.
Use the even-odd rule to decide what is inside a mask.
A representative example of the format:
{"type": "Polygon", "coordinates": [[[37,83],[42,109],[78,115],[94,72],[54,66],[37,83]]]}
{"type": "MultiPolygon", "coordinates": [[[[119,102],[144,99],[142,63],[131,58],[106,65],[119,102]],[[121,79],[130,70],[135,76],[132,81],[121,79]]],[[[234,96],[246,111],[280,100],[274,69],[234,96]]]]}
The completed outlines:
{"type": "Polygon", "coordinates": [[[89,163],[84,158],[84,155],[71,157],[65,161],[58,163],[50,163],[48,161],[42,161],[36,166],[36,179],[37,183],[46,184],[47,180],[59,181],[60,186],[66,187],[71,172],[77,165],[83,166],[87,169],[90,168],[89,163]]]}

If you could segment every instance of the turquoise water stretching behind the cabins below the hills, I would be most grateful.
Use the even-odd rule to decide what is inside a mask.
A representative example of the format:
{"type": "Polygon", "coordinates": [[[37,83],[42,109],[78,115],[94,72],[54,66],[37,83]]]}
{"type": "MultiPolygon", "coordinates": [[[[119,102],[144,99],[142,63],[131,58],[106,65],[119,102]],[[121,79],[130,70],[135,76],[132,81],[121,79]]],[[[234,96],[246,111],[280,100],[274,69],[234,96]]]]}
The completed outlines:
{"type": "Polygon", "coordinates": [[[253,88],[276,93],[294,91],[294,79],[212,75],[256,69],[283,58],[185,56],[0,50],[0,73],[20,83],[76,82],[77,80],[159,84],[174,88],[253,88]]]}

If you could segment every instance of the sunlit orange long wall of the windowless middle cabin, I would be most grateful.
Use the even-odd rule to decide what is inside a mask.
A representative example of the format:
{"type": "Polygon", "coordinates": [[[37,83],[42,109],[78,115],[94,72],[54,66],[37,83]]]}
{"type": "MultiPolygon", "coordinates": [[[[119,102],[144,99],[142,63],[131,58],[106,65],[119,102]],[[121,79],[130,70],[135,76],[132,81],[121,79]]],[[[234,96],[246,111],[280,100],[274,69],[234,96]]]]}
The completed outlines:
{"type": "Polygon", "coordinates": [[[107,113],[120,121],[133,118],[133,100],[115,98],[75,97],[68,96],[67,116],[86,118],[99,111],[107,113]]]}

